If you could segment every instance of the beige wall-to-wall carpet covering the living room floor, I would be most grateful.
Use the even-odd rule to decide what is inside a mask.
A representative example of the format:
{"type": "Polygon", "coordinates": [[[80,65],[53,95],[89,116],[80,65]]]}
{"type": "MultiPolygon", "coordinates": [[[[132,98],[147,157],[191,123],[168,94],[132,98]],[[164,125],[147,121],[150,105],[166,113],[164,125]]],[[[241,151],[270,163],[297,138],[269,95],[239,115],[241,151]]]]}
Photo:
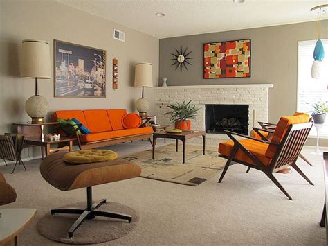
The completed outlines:
{"type": "MultiPolygon", "coordinates": [[[[161,141],[158,141],[158,146],[161,141]]],[[[120,156],[150,149],[147,142],[111,147],[120,156]]],[[[293,173],[275,177],[293,201],[263,173],[233,165],[221,184],[215,175],[192,187],[152,179],[136,178],[95,186],[94,200],[125,204],[140,215],[138,226],[126,236],[98,245],[325,245],[325,228],[320,222],[324,201],[322,157],[303,154],[313,167],[299,160],[298,166],[315,184],[311,186],[293,173]]],[[[327,150],[327,149],[326,149],[327,150]]],[[[219,157],[218,161],[219,161],[219,157]]],[[[39,160],[26,161],[11,175],[12,165],[0,167],[17,191],[17,202],[6,208],[36,208],[37,216],[19,236],[20,245],[60,245],[37,231],[37,221],[49,209],[86,199],[85,189],[59,191],[42,179],[39,160]]]]}

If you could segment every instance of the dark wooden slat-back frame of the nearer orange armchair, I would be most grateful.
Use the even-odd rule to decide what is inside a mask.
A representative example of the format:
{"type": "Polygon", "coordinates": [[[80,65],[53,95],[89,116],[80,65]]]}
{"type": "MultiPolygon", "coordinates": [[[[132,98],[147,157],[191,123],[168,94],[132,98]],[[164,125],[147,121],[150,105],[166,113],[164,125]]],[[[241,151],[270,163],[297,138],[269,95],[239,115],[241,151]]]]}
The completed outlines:
{"type": "MultiPolygon", "coordinates": [[[[280,190],[286,195],[286,197],[289,198],[289,200],[293,200],[291,198],[291,195],[286,192],[284,187],[280,184],[280,182],[277,181],[273,173],[277,172],[278,170],[282,170],[288,166],[292,166],[309,184],[313,185],[311,180],[304,175],[302,170],[296,165],[296,160],[298,159],[298,156],[300,155],[300,151],[302,150],[302,147],[304,146],[305,141],[307,140],[307,136],[309,135],[309,132],[312,128],[313,122],[309,123],[300,123],[300,124],[294,124],[289,125],[289,128],[286,131],[286,134],[284,135],[282,141],[280,143],[274,143],[268,140],[262,140],[262,139],[255,139],[253,137],[248,137],[243,134],[238,134],[235,132],[225,131],[228,137],[233,140],[234,146],[233,150],[230,153],[230,156],[224,156],[219,155],[220,157],[223,157],[225,159],[228,159],[226,162],[226,166],[224,166],[224,170],[222,171],[221,177],[219,179],[219,183],[221,183],[222,179],[224,178],[224,175],[226,175],[226,171],[228,170],[228,167],[232,163],[239,163],[245,166],[248,166],[248,168],[254,168],[257,170],[261,170],[263,173],[268,176],[269,179],[278,187],[280,190]],[[259,159],[255,157],[245,146],[243,146],[242,143],[240,143],[233,135],[244,137],[246,139],[252,139],[253,141],[258,141],[261,143],[268,143],[273,144],[277,146],[277,151],[275,152],[275,155],[273,156],[273,159],[271,160],[271,163],[268,166],[265,166],[262,164],[259,159]],[[242,150],[252,161],[254,161],[254,164],[248,164],[245,161],[239,161],[237,159],[234,159],[235,154],[237,150],[242,150]]],[[[253,128],[256,132],[259,132],[259,130],[263,130],[260,128],[253,128]]],[[[266,131],[264,129],[264,131],[266,131]]]]}

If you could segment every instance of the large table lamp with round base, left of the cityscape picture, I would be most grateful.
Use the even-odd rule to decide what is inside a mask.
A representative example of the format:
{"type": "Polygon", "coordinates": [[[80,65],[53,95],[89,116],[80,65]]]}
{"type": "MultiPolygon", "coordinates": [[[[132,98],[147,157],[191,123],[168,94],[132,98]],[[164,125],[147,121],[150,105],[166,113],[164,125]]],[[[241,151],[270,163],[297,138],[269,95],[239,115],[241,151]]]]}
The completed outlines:
{"type": "Polygon", "coordinates": [[[23,40],[21,77],[35,78],[35,95],[26,100],[25,111],[32,118],[32,123],[43,123],[49,105],[39,95],[38,78],[51,78],[49,43],[42,40],[23,40]]]}

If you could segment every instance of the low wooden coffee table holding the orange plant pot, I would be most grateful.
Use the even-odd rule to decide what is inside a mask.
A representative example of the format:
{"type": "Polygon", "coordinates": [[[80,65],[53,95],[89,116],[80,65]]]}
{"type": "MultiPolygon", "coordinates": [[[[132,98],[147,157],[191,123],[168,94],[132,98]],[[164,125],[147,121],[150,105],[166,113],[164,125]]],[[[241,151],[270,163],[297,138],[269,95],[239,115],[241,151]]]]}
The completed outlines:
{"type": "Polygon", "coordinates": [[[152,159],[155,159],[155,146],[156,146],[156,139],[164,138],[164,139],[176,139],[176,152],[178,152],[178,140],[182,141],[182,151],[183,151],[183,161],[185,163],[185,141],[187,139],[192,139],[194,137],[203,137],[203,155],[205,155],[205,131],[194,131],[194,130],[185,130],[181,133],[168,133],[165,131],[161,132],[154,132],[153,133],[153,155],[152,159]]]}

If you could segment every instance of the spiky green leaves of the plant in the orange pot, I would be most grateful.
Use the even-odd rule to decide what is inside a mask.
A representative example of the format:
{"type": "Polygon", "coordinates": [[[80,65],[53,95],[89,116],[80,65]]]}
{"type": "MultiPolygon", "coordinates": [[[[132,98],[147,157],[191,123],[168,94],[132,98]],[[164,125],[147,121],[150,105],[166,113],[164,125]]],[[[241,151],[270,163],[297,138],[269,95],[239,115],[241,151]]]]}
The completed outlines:
{"type": "Polygon", "coordinates": [[[172,109],[172,111],[165,113],[165,115],[171,115],[170,123],[194,119],[200,109],[197,108],[195,105],[191,105],[191,102],[192,101],[190,100],[188,103],[185,103],[185,101],[183,101],[183,103],[176,102],[176,105],[167,105],[168,108],[172,109]]]}

